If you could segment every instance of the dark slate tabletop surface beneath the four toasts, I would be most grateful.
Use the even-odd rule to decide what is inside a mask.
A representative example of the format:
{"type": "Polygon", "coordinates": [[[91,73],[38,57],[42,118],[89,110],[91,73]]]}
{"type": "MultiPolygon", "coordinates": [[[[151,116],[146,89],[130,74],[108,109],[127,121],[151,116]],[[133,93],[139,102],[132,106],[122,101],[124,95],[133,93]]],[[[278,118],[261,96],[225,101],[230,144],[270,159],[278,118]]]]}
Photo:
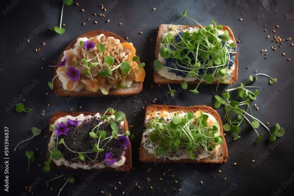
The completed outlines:
{"type": "MultiPolygon", "coordinates": [[[[73,175],[74,184],[68,183],[61,195],[289,195],[293,192],[293,61],[294,46],[291,41],[284,41],[282,48],[278,43],[271,42],[272,37],[280,36],[282,39],[293,37],[294,4],[293,1],[74,1],[71,6],[65,6],[62,23],[65,23],[65,33],[59,35],[52,32],[49,27],[59,24],[61,14],[61,1],[24,1],[11,0],[1,2],[1,143],[4,143],[4,126],[9,128],[9,174],[4,174],[4,155],[1,155],[1,181],[4,185],[5,175],[9,175],[9,193],[7,195],[57,195],[64,182],[63,178],[51,183],[46,188],[41,179],[49,180],[56,174],[73,175]],[[14,4],[16,5],[13,5],[14,4]],[[76,6],[75,3],[79,3],[76,6]],[[101,11],[100,4],[108,11],[101,11]],[[12,8],[9,8],[12,7],[12,8]],[[156,8],[156,11],[152,11],[156,8]],[[82,12],[81,9],[85,11],[82,12]],[[179,16],[184,10],[187,14],[203,25],[210,24],[213,19],[217,24],[227,25],[233,30],[238,43],[239,78],[234,86],[245,81],[251,74],[269,74],[278,79],[278,82],[270,85],[268,79],[259,77],[256,86],[260,86],[258,98],[251,103],[258,105],[259,110],[254,110],[256,118],[267,123],[272,128],[275,123],[285,129],[285,137],[275,142],[268,141],[268,131],[259,128],[264,133],[264,139],[254,144],[256,135],[250,126],[243,126],[241,138],[232,141],[232,137],[225,136],[228,145],[228,162],[222,165],[211,164],[153,164],[141,163],[138,157],[141,134],[143,130],[144,110],[152,100],[157,98],[156,104],[166,105],[211,105],[213,95],[216,92],[214,85],[201,85],[199,94],[190,91],[181,91],[179,85],[171,85],[173,89],[181,92],[175,98],[167,95],[167,85],[159,87],[153,82],[151,64],[155,58],[154,48],[158,27],[160,24],[191,24],[193,21],[179,16]],[[6,11],[4,11],[6,10],[6,11]],[[5,12],[5,13],[4,13],[5,12]],[[93,16],[96,13],[97,16],[93,16]],[[105,17],[99,17],[100,13],[105,17]],[[90,21],[87,21],[91,18],[90,21]],[[243,20],[240,21],[239,19],[243,20]],[[106,20],[110,19],[109,23],[106,20]],[[95,24],[97,21],[98,24],[95,24]],[[86,25],[82,25],[86,22],[86,25]],[[122,25],[118,25],[118,23],[122,25]],[[266,27],[263,27],[267,24],[266,27]],[[275,25],[279,25],[276,28],[275,25]],[[121,37],[128,37],[141,57],[141,62],[146,63],[146,79],[143,91],[136,96],[127,98],[61,98],[49,89],[47,83],[51,81],[54,69],[48,65],[54,65],[62,50],[77,36],[92,30],[103,29],[116,33],[121,37]],[[264,32],[267,29],[267,32],[264,32]],[[276,33],[273,33],[275,30],[276,33]],[[142,31],[138,34],[136,31],[142,31]],[[270,38],[266,38],[270,35],[270,38]],[[25,41],[30,38],[30,42],[25,41]],[[42,46],[42,42],[46,45],[42,46]],[[277,46],[272,51],[270,46],[277,46]],[[16,49],[18,48],[18,49],[16,49]],[[35,52],[36,48],[41,48],[35,52]],[[262,49],[267,49],[267,59],[262,49]],[[286,53],[282,56],[282,53],[286,53]],[[41,58],[45,58],[42,61],[41,58]],[[41,69],[44,67],[44,70],[41,69]],[[249,69],[246,69],[249,67],[249,69]],[[35,85],[37,81],[37,84],[35,85]],[[35,83],[33,83],[35,82],[35,83]],[[35,86],[31,86],[31,85],[35,86]],[[153,88],[151,88],[153,85],[153,88]],[[46,93],[49,92],[49,95],[46,93]],[[273,94],[278,94],[274,96],[273,94]],[[16,113],[14,106],[6,111],[6,107],[14,100],[23,102],[31,108],[31,113],[16,113]],[[22,101],[26,99],[25,101],[22,101]],[[136,101],[134,101],[136,100],[136,101]],[[147,101],[147,103],[144,103],[147,101]],[[142,102],[142,103],[141,103],[142,102]],[[50,103],[48,107],[47,104],[50,103]],[[262,105],[264,104],[264,105],[262,105]],[[267,104],[267,105],[266,105],[267,104]],[[80,109],[79,106],[82,106],[80,109]],[[46,143],[48,135],[48,120],[56,111],[104,111],[108,107],[115,107],[126,113],[131,121],[130,131],[136,135],[132,140],[133,166],[135,170],[128,173],[93,171],[67,171],[51,170],[45,173],[42,170],[46,160],[46,143]],[[135,109],[135,107],[137,107],[135,109]],[[40,115],[45,110],[45,115],[40,115]],[[133,116],[133,113],[136,113],[133,116]],[[47,124],[46,124],[47,123],[47,124]],[[31,127],[43,126],[43,133],[31,140],[21,150],[13,152],[19,141],[31,135],[31,127]],[[39,148],[39,151],[36,150],[39,148]],[[37,161],[31,164],[30,172],[26,170],[28,160],[25,151],[34,150],[37,161]],[[241,151],[244,153],[241,154],[241,151]],[[43,153],[42,155],[40,153],[43,153]],[[252,167],[251,160],[256,167],[252,167]],[[233,165],[237,163],[237,165],[233,165]],[[41,167],[38,166],[41,164],[41,167]],[[147,170],[152,167],[151,171],[147,170]],[[23,170],[22,170],[23,169],[23,170]],[[168,171],[168,169],[173,169],[168,171]],[[219,173],[218,170],[222,172],[219,173]],[[163,173],[167,172],[165,176],[163,173]],[[174,177],[172,177],[174,175],[174,177]],[[214,178],[215,176],[215,178],[214,178]],[[137,177],[137,178],[136,178],[137,177]],[[146,178],[151,178],[147,181],[146,178]],[[163,180],[160,181],[159,178],[163,180]],[[227,177],[226,180],[223,180],[227,177]],[[41,180],[41,182],[39,181],[41,180]],[[178,183],[175,183],[175,180],[178,183]],[[121,185],[118,184],[121,182],[121,185]],[[201,185],[200,181],[203,181],[201,185]],[[135,183],[141,189],[135,187],[135,183]],[[29,192],[26,186],[32,185],[29,192]],[[84,187],[83,187],[84,186],[84,187]],[[153,187],[153,190],[150,189],[153,187]],[[53,187],[53,190],[50,188],[53,187]],[[114,190],[117,187],[117,190],[114,190]],[[179,189],[181,192],[178,192],[179,189]],[[280,191],[280,192],[278,192],[280,191]]],[[[224,86],[221,86],[222,89],[224,86]]],[[[195,86],[190,85],[188,89],[195,86]]],[[[223,109],[218,109],[220,114],[223,109]]],[[[4,145],[2,145],[4,148],[4,145]]],[[[2,151],[2,153],[4,153],[2,151]]],[[[4,191],[4,186],[1,191],[4,191]]]]}

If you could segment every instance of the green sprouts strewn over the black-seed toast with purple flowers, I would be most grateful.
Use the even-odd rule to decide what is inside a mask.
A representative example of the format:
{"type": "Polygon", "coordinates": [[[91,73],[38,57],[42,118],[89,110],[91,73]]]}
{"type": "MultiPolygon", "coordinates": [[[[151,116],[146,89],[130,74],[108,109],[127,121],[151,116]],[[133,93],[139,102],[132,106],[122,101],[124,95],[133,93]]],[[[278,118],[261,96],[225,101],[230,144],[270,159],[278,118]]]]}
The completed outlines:
{"type": "Polygon", "coordinates": [[[58,125],[56,125],[56,126],[54,124],[49,125],[49,130],[55,131],[57,137],[56,137],[55,144],[52,142],[50,142],[48,144],[51,147],[51,150],[49,150],[49,153],[47,155],[48,161],[44,162],[45,166],[43,167],[43,170],[45,172],[49,172],[52,159],[60,159],[62,157],[61,152],[58,150],[58,145],[64,145],[64,147],[67,148],[72,153],[77,153],[76,158],[73,158],[72,160],[78,159],[81,161],[89,161],[92,163],[97,162],[98,154],[100,152],[104,151],[104,147],[112,139],[117,140],[117,142],[116,142],[117,145],[121,145],[122,147],[127,148],[129,145],[129,140],[126,136],[129,136],[130,132],[128,130],[124,130],[125,131],[124,134],[118,134],[119,127],[117,124],[117,123],[120,123],[123,120],[125,120],[125,118],[126,118],[126,115],[123,112],[121,112],[121,111],[116,112],[116,110],[114,110],[113,108],[108,108],[105,111],[105,113],[100,117],[101,122],[98,123],[98,125],[96,125],[91,130],[91,132],[89,132],[89,137],[93,138],[93,139],[98,138],[98,142],[94,144],[94,146],[91,150],[88,150],[86,152],[74,151],[66,145],[66,143],[64,142],[64,138],[61,138],[60,140],[58,139],[59,135],[61,135],[61,134],[66,135],[67,134],[66,132],[70,131],[70,127],[77,126],[78,123],[80,122],[80,120],[71,120],[70,118],[68,118],[67,125],[65,125],[64,123],[58,123],[58,125]],[[108,111],[110,114],[107,113],[108,111]],[[106,114],[108,114],[108,115],[106,115],[106,114]],[[112,129],[112,133],[108,137],[106,137],[107,136],[106,131],[99,129],[100,125],[103,123],[108,123],[112,129]],[[96,155],[94,156],[94,158],[90,158],[90,156],[88,156],[89,153],[96,153],[96,155]]]}

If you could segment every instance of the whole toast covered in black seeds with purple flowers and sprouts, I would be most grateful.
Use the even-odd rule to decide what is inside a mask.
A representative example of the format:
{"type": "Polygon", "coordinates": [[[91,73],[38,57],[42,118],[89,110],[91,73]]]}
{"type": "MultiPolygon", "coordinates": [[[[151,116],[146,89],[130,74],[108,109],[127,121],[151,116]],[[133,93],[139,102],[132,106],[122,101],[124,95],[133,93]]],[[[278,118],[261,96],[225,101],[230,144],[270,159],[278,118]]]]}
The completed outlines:
{"type": "Polygon", "coordinates": [[[56,112],[48,137],[44,171],[103,169],[130,171],[131,143],[126,115],[112,108],[106,113],[56,112]]]}

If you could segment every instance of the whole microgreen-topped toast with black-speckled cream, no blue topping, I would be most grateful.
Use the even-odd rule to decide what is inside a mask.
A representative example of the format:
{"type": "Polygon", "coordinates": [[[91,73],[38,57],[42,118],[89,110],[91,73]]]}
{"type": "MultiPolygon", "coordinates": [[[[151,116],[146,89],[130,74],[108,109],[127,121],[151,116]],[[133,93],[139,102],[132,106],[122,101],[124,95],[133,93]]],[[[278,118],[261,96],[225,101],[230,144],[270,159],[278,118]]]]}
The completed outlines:
{"type": "Polygon", "coordinates": [[[142,162],[225,163],[228,149],[220,116],[210,106],[149,105],[142,162]]]}

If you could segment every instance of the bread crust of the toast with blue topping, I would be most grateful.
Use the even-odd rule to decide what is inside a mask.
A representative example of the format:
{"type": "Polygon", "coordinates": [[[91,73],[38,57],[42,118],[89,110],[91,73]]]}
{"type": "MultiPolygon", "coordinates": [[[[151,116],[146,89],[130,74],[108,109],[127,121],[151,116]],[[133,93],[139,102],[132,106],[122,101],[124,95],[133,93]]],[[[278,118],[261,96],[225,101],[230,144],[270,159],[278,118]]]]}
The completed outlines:
{"type": "MultiPolygon", "coordinates": [[[[189,27],[198,27],[199,29],[201,29],[201,26],[191,26],[191,25],[172,25],[172,24],[161,24],[159,26],[159,30],[158,30],[158,35],[157,35],[157,39],[156,39],[156,48],[155,48],[155,57],[158,59],[159,54],[159,49],[160,49],[160,43],[162,40],[162,36],[164,33],[168,32],[170,28],[176,27],[176,29],[178,30],[183,30],[183,29],[187,29],[189,27]]],[[[235,37],[233,35],[233,31],[230,29],[230,27],[228,26],[223,26],[223,31],[228,30],[229,31],[229,35],[230,38],[234,41],[236,48],[237,48],[237,43],[235,40],[235,37]]],[[[237,81],[238,79],[238,54],[237,51],[235,53],[235,70],[230,74],[230,80],[226,80],[227,84],[233,84],[237,81]]],[[[154,71],[154,82],[157,84],[181,84],[184,82],[184,80],[170,80],[167,79],[163,76],[161,76],[157,71],[154,71]]],[[[189,84],[198,84],[200,81],[196,80],[196,81],[190,81],[187,82],[189,84]]],[[[206,84],[206,82],[201,82],[203,84],[206,84]]],[[[212,84],[218,84],[218,81],[213,81],[212,84]]]]}

